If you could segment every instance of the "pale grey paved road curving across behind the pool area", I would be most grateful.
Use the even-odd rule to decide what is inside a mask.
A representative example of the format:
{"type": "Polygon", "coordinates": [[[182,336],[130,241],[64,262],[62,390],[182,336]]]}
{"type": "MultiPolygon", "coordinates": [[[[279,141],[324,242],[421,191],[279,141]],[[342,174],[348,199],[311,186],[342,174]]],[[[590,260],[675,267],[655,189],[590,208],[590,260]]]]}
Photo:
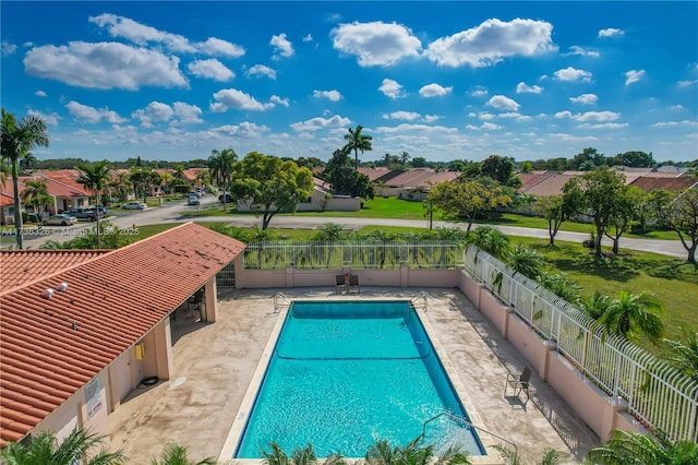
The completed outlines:
{"type": "MultiPolygon", "coordinates": [[[[188,216],[186,212],[195,212],[197,208],[205,208],[212,204],[218,204],[216,199],[212,195],[205,195],[202,199],[202,205],[188,206],[186,202],[182,199],[181,202],[169,202],[157,208],[147,208],[145,211],[117,211],[115,216],[109,219],[111,223],[121,228],[129,228],[133,225],[153,225],[159,223],[184,223],[190,220],[195,222],[220,222],[230,223],[237,227],[253,227],[261,226],[262,219],[254,215],[239,215],[234,217],[230,216],[188,216]]],[[[428,227],[426,220],[417,219],[390,219],[390,218],[346,218],[346,217],[312,217],[312,216],[275,216],[272,218],[272,227],[275,228],[296,228],[296,229],[314,229],[325,223],[335,223],[342,225],[350,229],[358,229],[363,226],[381,225],[381,226],[402,226],[402,227],[428,227]]],[[[70,240],[80,234],[81,229],[94,226],[93,224],[81,223],[80,225],[72,226],[70,228],[61,227],[44,227],[45,230],[52,230],[50,235],[41,236],[25,236],[25,247],[38,248],[43,242],[48,239],[64,241],[70,240]]],[[[447,223],[447,222],[434,222],[434,227],[460,227],[466,229],[467,223],[447,223]]],[[[4,227],[3,231],[9,227],[4,227]]],[[[534,228],[521,228],[513,226],[496,226],[502,233],[509,236],[522,236],[547,239],[546,229],[534,228]]],[[[559,231],[555,237],[556,240],[581,242],[588,239],[589,235],[583,233],[569,233],[559,231]]],[[[603,243],[611,246],[611,241],[604,238],[603,243]]],[[[685,259],[687,255],[686,250],[678,240],[653,240],[653,239],[630,239],[621,238],[622,249],[640,250],[646,252],[655,252],[664,255],[676,257],[685,259]]]]}

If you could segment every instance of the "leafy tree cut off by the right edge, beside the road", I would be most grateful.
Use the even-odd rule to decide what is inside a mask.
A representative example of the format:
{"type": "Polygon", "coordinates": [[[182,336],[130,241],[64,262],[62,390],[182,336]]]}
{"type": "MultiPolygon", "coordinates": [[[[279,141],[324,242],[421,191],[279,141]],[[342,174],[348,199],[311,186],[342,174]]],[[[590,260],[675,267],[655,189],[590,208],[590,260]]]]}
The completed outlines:
{"type": "Polygon", "coordinates": [[[659,224],[678,235],[688,252],[688,263],[696,264],[698,248],[698,189],[689,189],[678,196],[669,191],[653,191],[650,204],[659,224]]]}

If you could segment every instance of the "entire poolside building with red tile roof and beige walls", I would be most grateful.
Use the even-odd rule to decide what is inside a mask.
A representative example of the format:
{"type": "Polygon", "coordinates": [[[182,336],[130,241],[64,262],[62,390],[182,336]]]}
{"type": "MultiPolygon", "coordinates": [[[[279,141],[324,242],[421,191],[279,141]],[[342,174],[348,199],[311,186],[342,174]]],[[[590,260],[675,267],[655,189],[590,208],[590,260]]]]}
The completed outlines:
{"type": "MultiPolygon", "coordinates": [[[[173,375],[170,318],[245,245],[188,223],[111,251],[0,251],[0,445],[108,414],[148,377],[173,375]]],[[[107,441],[108,443],[108,441],[107,441]]]]}

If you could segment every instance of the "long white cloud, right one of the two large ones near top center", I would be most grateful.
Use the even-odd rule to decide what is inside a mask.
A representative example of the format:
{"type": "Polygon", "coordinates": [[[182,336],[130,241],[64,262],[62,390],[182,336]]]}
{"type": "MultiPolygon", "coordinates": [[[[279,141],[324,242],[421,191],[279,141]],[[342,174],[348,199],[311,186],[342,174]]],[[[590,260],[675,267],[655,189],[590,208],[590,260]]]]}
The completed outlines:
{"type": "Polygon", "coordinates": [[[434,40],[424,55],[442,67],[489,67],[507,57],[557,50],[552,32],[553,25],[545,21],[492,19],[478,27],[434,40]]]}

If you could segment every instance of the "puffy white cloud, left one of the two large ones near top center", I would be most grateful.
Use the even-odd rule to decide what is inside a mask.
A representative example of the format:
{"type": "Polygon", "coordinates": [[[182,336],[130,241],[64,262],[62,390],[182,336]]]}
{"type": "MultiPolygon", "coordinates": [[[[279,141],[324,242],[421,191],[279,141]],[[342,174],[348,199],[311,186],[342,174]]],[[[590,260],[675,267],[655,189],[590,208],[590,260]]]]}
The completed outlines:
{"type": "Polygon", "coordinates": [[[340,24],[330,32],[336,50],[358,57],[360,67],[386,67],[405,58],[419,58],[422,43],[401,24],[340,24]]]}

